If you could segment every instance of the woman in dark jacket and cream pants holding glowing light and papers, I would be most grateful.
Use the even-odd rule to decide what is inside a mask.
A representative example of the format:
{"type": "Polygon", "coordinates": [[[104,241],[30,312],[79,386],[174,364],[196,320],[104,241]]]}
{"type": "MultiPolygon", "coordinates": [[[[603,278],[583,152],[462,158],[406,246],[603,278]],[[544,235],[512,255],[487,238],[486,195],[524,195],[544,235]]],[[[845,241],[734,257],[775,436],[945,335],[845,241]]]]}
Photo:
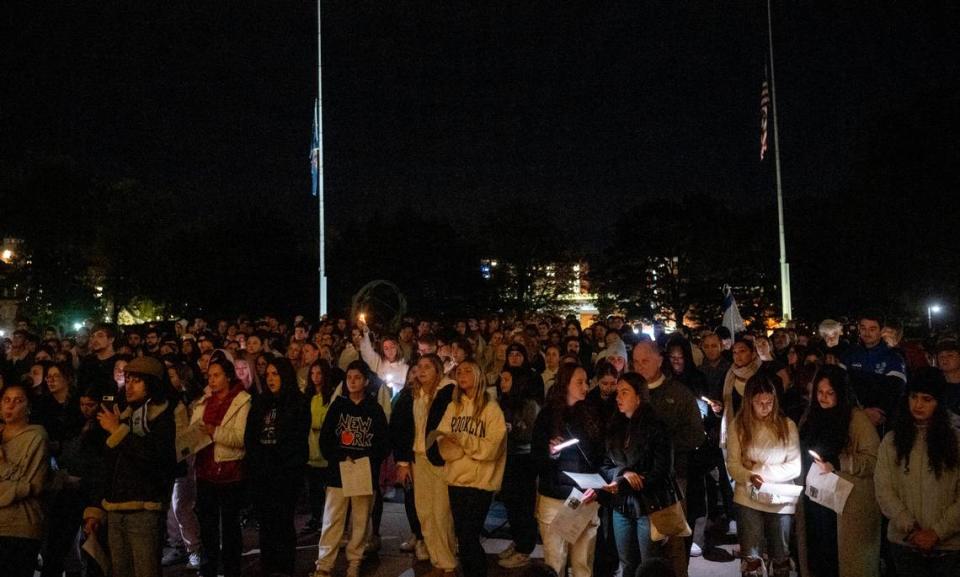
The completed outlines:
{"type": "MultiPolygon", "coordinates": [[[[534,423],[531,443],[539,479],[536,515],[543,559],[558,575],[563,575],[569,564],[573,577],[593,574],[599,516],[594,514],[575,543],[564,541],[551,524],[577,489],[564,471],[599,473],[603,462],[601,421],[596,406],[585,402],[586,397],[587,372],[578,365],[562,365],[534,423]],[[573,439],[578,442],[570,443],[573,439]]],[[[591,504],[596,498],[592,489],[584,492],[584,504],[591,504]]]]}

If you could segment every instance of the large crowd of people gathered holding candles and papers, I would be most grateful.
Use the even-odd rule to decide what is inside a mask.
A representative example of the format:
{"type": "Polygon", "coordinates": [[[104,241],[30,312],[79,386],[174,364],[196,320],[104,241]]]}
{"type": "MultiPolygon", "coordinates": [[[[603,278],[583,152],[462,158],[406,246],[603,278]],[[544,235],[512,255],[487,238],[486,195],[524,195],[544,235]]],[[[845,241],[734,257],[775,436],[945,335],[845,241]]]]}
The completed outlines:
{"type": "Polygon", "coordinates": [[[294,575],[315,535],[313,575],[345,541],[359,577],[388,492],[401,549],[433,577],[486,576],[494,500],[507,570],[534,566],[539,542],[536,566],[572,577],[685,577],[698,555],[744,576],[960,575],[960,343],[904,341],[876,313],[656,339],[621,317],[395,334],[363,315],[70,335],[24,321],[2,344],[12,577],[237,577],[251,523],[263,575],[294,575]]]}

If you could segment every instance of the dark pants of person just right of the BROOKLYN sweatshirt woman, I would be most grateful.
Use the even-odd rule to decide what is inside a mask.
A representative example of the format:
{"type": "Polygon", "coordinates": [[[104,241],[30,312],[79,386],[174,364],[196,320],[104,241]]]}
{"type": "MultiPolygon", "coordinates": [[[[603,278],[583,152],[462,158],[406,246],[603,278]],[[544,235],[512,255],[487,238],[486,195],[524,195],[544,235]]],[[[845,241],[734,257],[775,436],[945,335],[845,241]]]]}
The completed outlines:
{"type": "Polygon", "coordinates": [[[507,508],[514,548],[529,555],[537,545],[537,469],[529,453],[507,455],[500,498],[507,508]]]}

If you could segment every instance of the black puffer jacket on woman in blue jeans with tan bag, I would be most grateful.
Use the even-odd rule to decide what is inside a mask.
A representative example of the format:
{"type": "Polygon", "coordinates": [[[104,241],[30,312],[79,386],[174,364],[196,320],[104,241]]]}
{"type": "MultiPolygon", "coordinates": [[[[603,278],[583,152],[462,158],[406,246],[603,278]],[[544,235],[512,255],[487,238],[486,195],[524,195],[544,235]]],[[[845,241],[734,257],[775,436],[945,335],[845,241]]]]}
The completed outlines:
{"type": "Polygon", "coordinates": [[[652,410],[641,411],[628,420],[618,415],[607,436],[603,477],[617,483],[612,506],[627,517],[646,515],[643,496],[662,493],[672,483],[673,447],[666,428],[652,410]],[[643,488],[634,490],[623,474],[632,471],[643,477],[643,488]]]}

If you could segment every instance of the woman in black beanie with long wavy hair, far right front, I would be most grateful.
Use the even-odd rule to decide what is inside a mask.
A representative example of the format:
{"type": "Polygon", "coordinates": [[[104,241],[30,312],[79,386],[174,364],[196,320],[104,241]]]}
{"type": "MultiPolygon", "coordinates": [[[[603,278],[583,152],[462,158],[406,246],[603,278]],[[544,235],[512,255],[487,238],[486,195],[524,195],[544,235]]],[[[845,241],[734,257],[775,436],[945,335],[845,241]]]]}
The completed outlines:
{"type": "Polygon", "coordinates": [[[960,433],[945,388],[940,371],[917,371],[877,455],[877,502],[900,576],[960,574],[960,433]]]}

